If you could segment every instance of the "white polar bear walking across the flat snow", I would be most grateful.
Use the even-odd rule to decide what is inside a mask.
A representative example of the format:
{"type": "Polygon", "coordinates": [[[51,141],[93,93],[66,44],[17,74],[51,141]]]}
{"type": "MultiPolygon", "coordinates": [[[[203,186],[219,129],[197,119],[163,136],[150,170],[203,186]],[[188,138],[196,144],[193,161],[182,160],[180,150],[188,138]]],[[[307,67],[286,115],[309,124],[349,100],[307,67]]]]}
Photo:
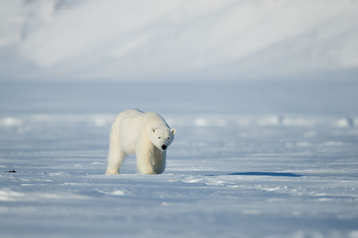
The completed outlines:
{"type": "Polygon", "coordinates": [[[138,173],[163,173],[166,149],[175,133],[156,112],[136,108],[121,112],[111,127],[106,174],[120,174],[123,159],[129,154],[136,155],[138,173]]]}

